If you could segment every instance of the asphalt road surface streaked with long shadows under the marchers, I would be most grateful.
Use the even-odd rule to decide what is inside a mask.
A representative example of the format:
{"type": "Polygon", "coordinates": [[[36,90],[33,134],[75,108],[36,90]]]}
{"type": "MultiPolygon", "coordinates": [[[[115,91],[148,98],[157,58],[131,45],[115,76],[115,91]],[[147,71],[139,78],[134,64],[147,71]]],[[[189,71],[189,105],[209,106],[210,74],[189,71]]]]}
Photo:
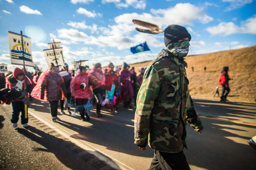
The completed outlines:
{"type": "MultiPolygon", "coordinates": [[[[185,149],[184,153],[190,168],[192,170],[255,170],[256,151],[249,146],[248,140],[256,135],[256,104],[221,103],[205,99],[193,99],[193,101],[201,116],[204,131],[198,134],[189,124],[187,125],[188,150],[185,149]]],[[[39,122],[37,124],[33,122],[33,124],[33,120],[29,120],[29,125],[37,128],[37,126],[43,126],[40,124],[42,122],[64,136],[64,139],[68,139],[77,147],[84,149],[86,153],[89,151],[90,154],[96,154],[96,157],[102,161],[101,164],[104,164],[101,168],[147,169],[153,157],[153,150],[147,146],[147,149],[142,151],[134,144],[135,108],[124,109],[122,105],[119,105],[119,108],[116,115],[111,115],[109,110],[104,109],[102,111],[103,118],[97,118],[95,110],[93,110],[90,113],[91,120],[87,122],[81,121],[79,115],[72,117],[67,114],[58,115],[61,121],[52,122],[49,104],[33,99],[29,105],[29,115],[37,118],[39,122]],[[103,156],[101,157],[101,155],[103,156]]],[[[3,117],[3,119],[5,118],[3,117]]],[[[9,118],[2,120],[2,124],[13,131],[14,128],[12,129],[9,118]]],[[[20,122],[18,122],[18,128],[23,128],[20,122]]],[[[44,132],[43,129],[42,131],[44,132]]],[[[33,131],[35,134],[37,132],[33,131]]],[[[19,131],[13,133],[20,134],[19,131]]],[[[49,132],[46,133],[49,134],[49,132]]],[[[38,144],[42,145],[40,142],[38,144]]],[[[0,154],[2,155],[2,153],[0,154]]],[[[74,152],[63,152],[62,154],[65,157],[72,157],[74,152]]],[[[70,169],[76,168],[74,165],[67,166],[65,160],[56,154],[51,157],[53,160],[61,160],[60,166],[64,164],[70,169]]],[[[73,164],[84,166],[79,162],[73,162],[73,164]]],[[[93,163],[90,165],[95,168],[93,163]]]]}

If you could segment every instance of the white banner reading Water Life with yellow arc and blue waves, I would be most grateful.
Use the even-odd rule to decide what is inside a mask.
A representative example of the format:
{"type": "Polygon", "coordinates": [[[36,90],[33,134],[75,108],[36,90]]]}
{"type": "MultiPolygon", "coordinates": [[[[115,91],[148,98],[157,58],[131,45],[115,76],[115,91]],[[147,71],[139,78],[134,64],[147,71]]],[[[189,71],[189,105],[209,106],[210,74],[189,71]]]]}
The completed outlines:
{"type": "Polygon", "coordinates": [[[33,63],[31,55],[31,38],[25,35],[22,35],[22,38],[23,50],[21,34],[8,31],[11,64],[34,67],[35,64],[33,63]]]}

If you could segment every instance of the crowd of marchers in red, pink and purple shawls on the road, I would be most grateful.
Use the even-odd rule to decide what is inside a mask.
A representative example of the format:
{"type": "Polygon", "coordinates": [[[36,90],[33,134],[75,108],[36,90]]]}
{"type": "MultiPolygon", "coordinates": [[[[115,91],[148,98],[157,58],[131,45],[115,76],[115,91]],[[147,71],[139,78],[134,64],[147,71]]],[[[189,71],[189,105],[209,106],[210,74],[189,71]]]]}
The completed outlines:
{"type": "Polygon", "coordinates": [[[81,65],[78,70],[69,70],[68,64],[65,64],[65,70],[68,74],[61,76],[52,63],[44,72],[38,70],[30,73],[15,68],[13,73],[1,73],[0,88],[17,89],[21,93],[10,101],[13,127],[17,127],[20,112],[21,124],[28,126],[28,106],[33,98],[49,102],[53,122],[60,120],[58,107],[61,110],[59,114],[80,114],[83,121],[90,120],[93,105],[99,118],[102,117],[102,107],[116,114],[120,102],[123,103],[122,109],[132,109],[136,106],[137,92],[145,72],[145,68],[139,68],[136,74],[135,68],[130,68],[126,63],[117,67],[111,62],[105,71],[100,63],[95,63],[92,69],[88,65],[81,65]],[[70,107],[73,107],[73,111],[70,107]]]}

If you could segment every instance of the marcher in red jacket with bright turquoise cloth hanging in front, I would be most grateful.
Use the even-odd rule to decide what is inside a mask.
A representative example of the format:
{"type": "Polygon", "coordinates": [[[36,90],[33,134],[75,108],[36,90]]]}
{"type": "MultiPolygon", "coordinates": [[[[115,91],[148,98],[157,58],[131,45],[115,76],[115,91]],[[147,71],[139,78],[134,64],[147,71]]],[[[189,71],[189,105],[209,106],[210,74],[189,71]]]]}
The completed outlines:
{"type": "Polygon", "coordinates": [[[115,89],[117,87],[118,83],[118,76],[117,73],[114,71],[114,64],[109,63],[108,64],[108,71],[105,72],[105,77],[106,77],[106,92],[107,92],[107,99],[109,100],[108,106],[111,110],[112,114],[115,114],[115,107],[118,105],[116,100],[114,101],[115,97],[115,89]]]}

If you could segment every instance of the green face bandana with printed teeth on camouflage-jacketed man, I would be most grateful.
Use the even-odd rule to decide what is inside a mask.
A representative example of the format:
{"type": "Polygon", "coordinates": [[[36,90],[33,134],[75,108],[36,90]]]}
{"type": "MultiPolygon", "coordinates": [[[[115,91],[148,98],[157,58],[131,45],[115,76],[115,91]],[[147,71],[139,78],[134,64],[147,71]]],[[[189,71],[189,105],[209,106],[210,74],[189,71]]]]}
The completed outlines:
{"type": "Polygon", "coordinates": [[[188,47],[190,46],[189,41],[180,41],[177,43],[170,43],[166,49],[171,52],[174,56],[185,57],[188,54],[188,47]]]}

